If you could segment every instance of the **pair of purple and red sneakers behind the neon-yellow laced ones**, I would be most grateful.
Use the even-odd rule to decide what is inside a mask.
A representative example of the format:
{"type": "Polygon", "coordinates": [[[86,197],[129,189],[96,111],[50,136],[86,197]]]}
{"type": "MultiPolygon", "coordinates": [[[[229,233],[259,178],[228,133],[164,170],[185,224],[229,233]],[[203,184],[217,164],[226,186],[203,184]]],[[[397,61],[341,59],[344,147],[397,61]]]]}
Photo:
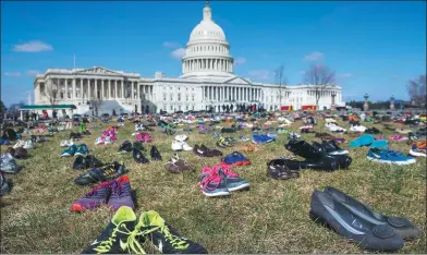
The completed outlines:
{"type": "Polygon", "coordinates": [[[71,210],[84,211],[95,209],[105,204],[114,210],[118,210],[121,206],[135,207],[127,175],[95,185],[89,193],[73,203],[71,210]]]}

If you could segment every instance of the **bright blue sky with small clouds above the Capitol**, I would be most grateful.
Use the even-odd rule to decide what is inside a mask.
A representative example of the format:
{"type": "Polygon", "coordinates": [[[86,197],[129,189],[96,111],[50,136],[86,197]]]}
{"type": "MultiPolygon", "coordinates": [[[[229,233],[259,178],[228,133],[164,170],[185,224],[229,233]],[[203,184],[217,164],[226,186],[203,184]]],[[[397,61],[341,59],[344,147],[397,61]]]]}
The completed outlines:
{"type": "MultiPolygon", "coordinates": [[[[202,20],[193,2],[1,2],[1,98],[27,101],[34,75],[49,68],[105,66],[152,77],[180,75],[180,48],[202,20]],[[176,54],[178,53],[178,54],[176,54]]],[[[344,99],[407,98],[405,83],[426,72],[426,3],[211,1],[235,73],[289,84],[319,62],[335,70],[344,99]]]]}

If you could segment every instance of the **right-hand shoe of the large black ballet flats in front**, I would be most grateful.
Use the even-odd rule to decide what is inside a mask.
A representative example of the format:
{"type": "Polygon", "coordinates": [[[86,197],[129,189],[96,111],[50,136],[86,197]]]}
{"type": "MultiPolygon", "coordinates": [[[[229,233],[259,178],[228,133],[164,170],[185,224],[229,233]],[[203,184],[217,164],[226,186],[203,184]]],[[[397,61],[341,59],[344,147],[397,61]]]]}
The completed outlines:
{"type": "Polygon", "coordinates": [[[362,204],[357,199],[351,197],[350,195],[334,189],[331,186],[325,187],[325,192],[328,193],[333,199],[340,202],[351,211],[355,214],[364,215],[367,221],[375,224],[390,224],[393,227],[402,239],[415,239],[419,236],[420,230],[415,224],[413,224],[408,219],[401,217],[388,217],[378,212],[375,212],[368,206],[362,204]]]}

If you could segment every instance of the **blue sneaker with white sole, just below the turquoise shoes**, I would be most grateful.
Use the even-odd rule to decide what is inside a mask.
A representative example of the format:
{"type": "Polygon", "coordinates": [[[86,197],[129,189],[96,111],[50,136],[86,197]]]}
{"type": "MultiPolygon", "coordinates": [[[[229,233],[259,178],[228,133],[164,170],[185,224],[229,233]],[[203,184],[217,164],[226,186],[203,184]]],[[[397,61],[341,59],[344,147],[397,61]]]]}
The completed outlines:
{"type": "Polygon", "coordinates": [[[390,148],[386,148],[386,149],[371,148],[369,149],[366,157],[370,161],[382,162],[382,163],[410,165],[416,162],[415,158],[407,157],[390,148]]]}

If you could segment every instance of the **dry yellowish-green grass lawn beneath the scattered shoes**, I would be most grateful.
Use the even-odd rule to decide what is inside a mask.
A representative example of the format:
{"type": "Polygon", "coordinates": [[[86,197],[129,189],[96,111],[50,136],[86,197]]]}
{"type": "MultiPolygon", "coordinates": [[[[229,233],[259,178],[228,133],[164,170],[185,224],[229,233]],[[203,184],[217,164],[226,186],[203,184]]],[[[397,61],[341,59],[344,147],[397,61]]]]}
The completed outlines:
{"type": "MultiPolygon", "coordinates": [[[[100,124],[99,122],[97,123],[100,124]]],[[[221,123],[222,124],[222,123],[221,123]]],[[[346,123],[340,123],[346,127],[346,123]]],[[[224,125],[224,123],[223,123],[224,125]]],[[[302,123],[295,123],[296,130],[302,123]]],[[[366,124],[371,126],[370,124],[366,124]]],[[[106,126],[106,125],[105,125],[106,126]]],[[[382,129],[381,125],[376,125],[382,129]]],[[[252,165],[233,170],[249,181],[249,191],[232,193],[229,198],[208,198],[197,183],[204,166],[213,166],[220,158],[199,158],[193,151],[180,157],[196,166],[195,172],[171,174],[164,169],[172,156],[173,136],[152,133],[152,145],[158,146],[163,161],[136,165],[132,155],[118,155],[124,139],[132,139],[133,124],[120,127],[118,142],[96,146],[95,138],[103,129],[93,129],[93,135],[82,142],[91,154],[108,162],[122,159],[129,169],[131,185],[136,190],[139,216],[144,210],[157,210],[184,236],[202,243],[209,253],[362,253],[355,244],[333,231],[313,222],[308,217],[310,196],[315,189],[334,186],[349,193],[378,212],[407,217],[422,229],[422,236],[405,242],[401,253],[426,253],[426,159],[418,158],[410,166],[388,166],[366,159],[367,148],[350,149],[353,163],[349,170],[335,172],[302,171],[298,179],[276,181],[267,177],[267,161],[286,154],[286,135],[276,143],[261,145],[257,153],[244,153],[252,165]]],[[[317,131],[325,132],[320,121],[317,131]]],[[[244,132],[232,134],[242,135],[244,132]]],[[[246,135],[251,132],[246,131],[246,135]]],[[[74,184],[81,173],[72,169],[74,158],[61,158],[61,139],[70,131],[62,131],[46,144],[37,144],[30,158],[19,160],[25,169],[8,174],[13,191],[2,197],[1,253],[80,253],[107,226],[113,211],[107,207],[75,214],[72,203],[90,189],[74,184]]],[[[386,137],[392,133],[385,132],[386,137]]],[[[204,143],[215,147],[210,134],[193,131],[188,144],[204,143]]],[[[304,134],[315,141],[313,134],[304,134]]],[[[346,135],[343,137],[351,141],[346,135]]],[[[347,148],[347,144],[342,147],[347,148]]],[[[408,153],[405,143],[391,143],[394,149],[408,153]]],[[[146,146],[149,149],[149,145],[146,146]]],[[[4,151],[7,147],[2,146],[4,151]]],[[[233,148],[222,149],[225,154],[233,148]]],[[[147,253],[156,253],[152,246],[147,253]]]]}

